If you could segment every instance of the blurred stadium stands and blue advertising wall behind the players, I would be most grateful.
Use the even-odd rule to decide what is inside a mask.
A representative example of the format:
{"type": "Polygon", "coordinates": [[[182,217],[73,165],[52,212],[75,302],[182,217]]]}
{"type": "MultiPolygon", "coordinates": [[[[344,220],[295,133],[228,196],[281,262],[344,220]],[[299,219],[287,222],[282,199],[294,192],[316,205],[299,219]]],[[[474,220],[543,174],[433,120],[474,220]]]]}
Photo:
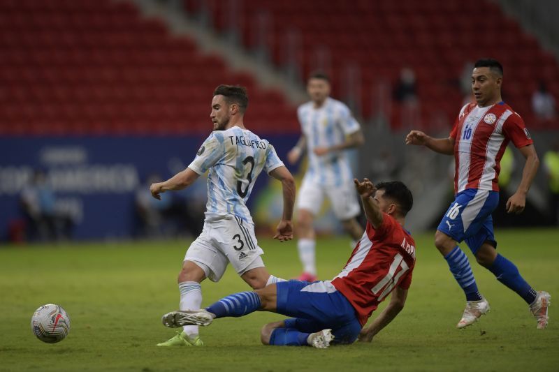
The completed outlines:
{"type": "MultiPolygon", "coordinates": [[[[0,242],[196,235],[203,180],[159,203],[146,193],[194,158],[213,89],[247,87],[245,124],[285,158],[317,69],[363,126],[356,175],[405,181],[409,227],[433,228],[451,200],[451,158],[403,139],[449,133],[480,57],[501,61],[504,100],[551,159],[525,213],[495,223],[556,224],[558,14],[554,0],[0,0],[0,242]]],[[[504,200],[516,156],[503,161],[504,200]]],[[[264,229],[281,213],[266,178],[250,205],[264,229]]],[[[319,228],[339,230],[327,213],[319,228]]]]}

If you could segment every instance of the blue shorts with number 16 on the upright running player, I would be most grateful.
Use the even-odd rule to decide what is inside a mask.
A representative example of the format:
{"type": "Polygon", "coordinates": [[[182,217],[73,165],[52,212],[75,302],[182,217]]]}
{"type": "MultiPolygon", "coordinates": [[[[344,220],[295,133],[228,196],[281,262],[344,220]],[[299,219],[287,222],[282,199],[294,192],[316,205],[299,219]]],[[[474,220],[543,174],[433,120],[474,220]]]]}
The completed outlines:
{"type": "Polygon", "coordinates": [[[465,241],[474,255],[485,241],[497,248],[491,213],[498,204],[497,191],[467,188],[456,194],[437,230],[458,242],[465,241]]]}

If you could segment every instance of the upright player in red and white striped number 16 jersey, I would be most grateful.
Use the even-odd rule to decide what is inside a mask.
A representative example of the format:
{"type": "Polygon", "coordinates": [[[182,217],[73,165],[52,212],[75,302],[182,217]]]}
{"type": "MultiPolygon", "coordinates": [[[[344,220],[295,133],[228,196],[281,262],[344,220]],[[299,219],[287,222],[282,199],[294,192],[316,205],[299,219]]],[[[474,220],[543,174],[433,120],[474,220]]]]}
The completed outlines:
{"type": "Polygon", "coordinates": [[[522,297],[537,320],[537,328],[544,329],[551,296],[548,292],[536,292],[526,283],[516,265],[497,253],[493,236],[491,213],[498,206],[500,160],[509,141],[525,158],[525,164],[521,183],[507,200],[507,213],[519,214],[524,210],[526,194],[539,165],[534,141],[523,119],[501,99],[502,78],[498,61],[477,61],[472,72],[476,102],[462,107],[450,136],[433,138],[421,131],[411,131],[406,144],[453,155],[456,162],[456,196],[437,228],[435,246],[466,295],[466,308],[457,327],[467,327],[489,311],[489,303],[477,289],[470,262],[458,246],[458,242],[466,241],[479,265],[522,297]]]}

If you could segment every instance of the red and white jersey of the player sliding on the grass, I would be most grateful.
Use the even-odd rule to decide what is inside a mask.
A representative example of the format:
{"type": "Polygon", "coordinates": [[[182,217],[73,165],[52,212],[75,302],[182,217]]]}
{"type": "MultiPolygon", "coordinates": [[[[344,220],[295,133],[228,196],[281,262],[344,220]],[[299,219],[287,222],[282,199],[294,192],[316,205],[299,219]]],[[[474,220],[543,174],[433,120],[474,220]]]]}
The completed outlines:
{"type": "Polygon", "coordinates": [[[415,241],[398,221],[384,214],[382,225],[367,223],[344,269],[332,284],[354,306],[361,325],[396,287],[407,289],[415,266],[415,241]]]}

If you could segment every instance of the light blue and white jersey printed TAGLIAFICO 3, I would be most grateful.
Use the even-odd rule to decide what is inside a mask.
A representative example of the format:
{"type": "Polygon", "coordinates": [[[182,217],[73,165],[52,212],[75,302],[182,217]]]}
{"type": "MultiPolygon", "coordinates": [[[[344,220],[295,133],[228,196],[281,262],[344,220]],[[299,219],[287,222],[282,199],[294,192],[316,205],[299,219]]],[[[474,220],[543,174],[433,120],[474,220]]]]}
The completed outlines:
{"type": "Polygon", "coordinates": [[[234,214],[253,223],[246,202],[254,181],[262,170],[270,173],[282,165],[267,140],[233,126],[226,131],[213,131],[188,168],[197,174],[210,170],[206,220],[234,214]]]}

